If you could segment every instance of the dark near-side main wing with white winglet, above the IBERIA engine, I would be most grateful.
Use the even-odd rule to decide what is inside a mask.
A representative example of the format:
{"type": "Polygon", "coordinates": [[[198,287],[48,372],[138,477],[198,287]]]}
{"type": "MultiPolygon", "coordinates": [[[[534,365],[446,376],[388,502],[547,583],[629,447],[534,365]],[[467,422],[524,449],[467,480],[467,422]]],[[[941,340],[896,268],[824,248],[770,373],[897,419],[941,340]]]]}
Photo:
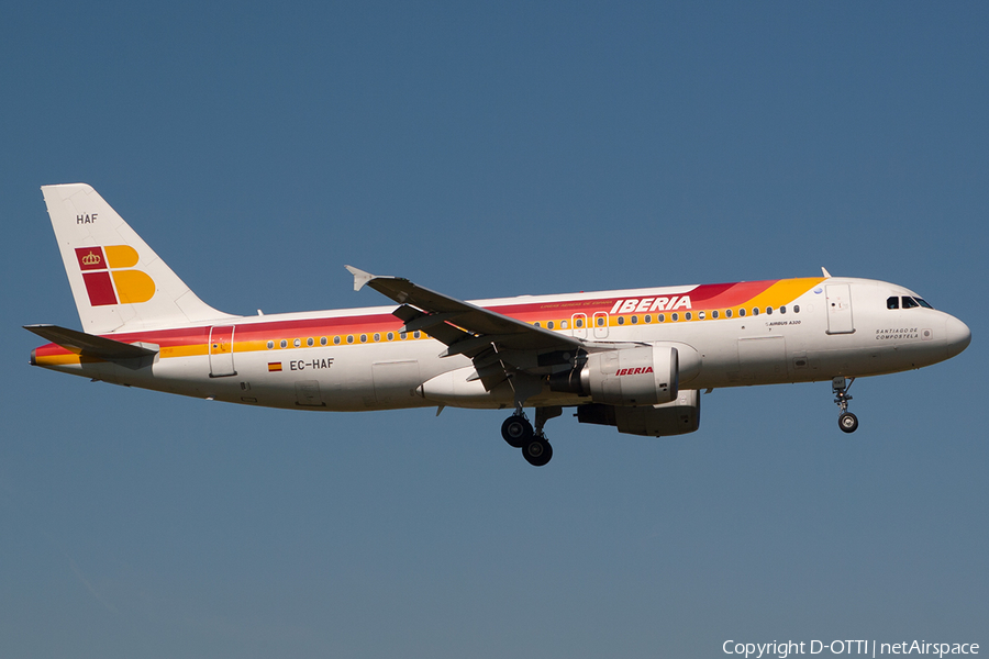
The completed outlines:
{"type": "Polygon", "coordinates": [[[378,277],[352,266],[346,268],[354,275],[355,291],[367,284],[401,305],[392,313],[404,321],[404,332],[421,330],[446,344],[444,357],[465,355],[476,358],[492,349],[499,354],[563,350],[576,355],[577,349],[584,346],[578,338],[535,327],[416,286],[401,277],[378,277]]]}

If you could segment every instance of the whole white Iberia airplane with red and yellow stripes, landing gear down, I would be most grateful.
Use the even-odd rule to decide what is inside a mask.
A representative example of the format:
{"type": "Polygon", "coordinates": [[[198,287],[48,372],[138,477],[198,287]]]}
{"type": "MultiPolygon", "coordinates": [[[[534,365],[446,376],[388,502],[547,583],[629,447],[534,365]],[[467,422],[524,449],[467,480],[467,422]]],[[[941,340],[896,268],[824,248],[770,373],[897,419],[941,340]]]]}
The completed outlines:
{"type": "Polygon", "coordinates": [[[460,301],[346,266],[387,306],[255,316],[202,302],[85,183],[43,186],[82,323],[25,328],[31,364],[126,387],[255,406],[511,410],[501,434],[527,462],[579,423],[673,436],[700,426],[701,391],[832,382],[838,426],[856,378],[962,353],[958,319],[901,286],[845,277],[460,301]],[[534,424],[525,414],[534,409],[534,424]]]}

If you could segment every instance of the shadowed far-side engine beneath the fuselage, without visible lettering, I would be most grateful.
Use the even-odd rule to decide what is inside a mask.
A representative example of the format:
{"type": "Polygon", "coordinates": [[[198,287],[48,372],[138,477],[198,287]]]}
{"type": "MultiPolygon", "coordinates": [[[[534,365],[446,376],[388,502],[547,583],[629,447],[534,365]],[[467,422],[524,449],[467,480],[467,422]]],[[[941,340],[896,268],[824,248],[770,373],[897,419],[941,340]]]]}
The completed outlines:
{"type": "Polygon", "coordinates": [[[619,433],[668,437],[700,427],[700,392],[685,389],[677,400],[651,407],[623,407],[592,403],[577,407],[577,421],[618,427],[619,433]]]}

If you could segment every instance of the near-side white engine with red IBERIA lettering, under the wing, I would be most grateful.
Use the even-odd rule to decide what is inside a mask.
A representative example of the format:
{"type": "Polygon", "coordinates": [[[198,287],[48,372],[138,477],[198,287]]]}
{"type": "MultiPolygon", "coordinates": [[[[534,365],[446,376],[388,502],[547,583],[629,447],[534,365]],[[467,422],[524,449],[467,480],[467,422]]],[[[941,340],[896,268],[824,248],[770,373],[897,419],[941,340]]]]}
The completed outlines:
{"type": "Polygon", "coordinates": [[[589,395],[609,405],[657,405],[677,398],[679,361],[671,346],[588,355],[578,368],[549,378],[551,391],[589,395]]]}

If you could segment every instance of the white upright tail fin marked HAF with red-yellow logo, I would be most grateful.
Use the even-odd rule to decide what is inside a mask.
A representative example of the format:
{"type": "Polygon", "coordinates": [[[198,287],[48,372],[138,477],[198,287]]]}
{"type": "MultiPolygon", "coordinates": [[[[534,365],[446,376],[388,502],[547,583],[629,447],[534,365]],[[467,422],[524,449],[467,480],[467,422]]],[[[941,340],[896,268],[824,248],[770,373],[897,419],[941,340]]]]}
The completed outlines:
{"type": "Polygon", "coordinates": [[[89,334],[219,319],[85,183],[43,186],[82,330],[89,334]]]}

